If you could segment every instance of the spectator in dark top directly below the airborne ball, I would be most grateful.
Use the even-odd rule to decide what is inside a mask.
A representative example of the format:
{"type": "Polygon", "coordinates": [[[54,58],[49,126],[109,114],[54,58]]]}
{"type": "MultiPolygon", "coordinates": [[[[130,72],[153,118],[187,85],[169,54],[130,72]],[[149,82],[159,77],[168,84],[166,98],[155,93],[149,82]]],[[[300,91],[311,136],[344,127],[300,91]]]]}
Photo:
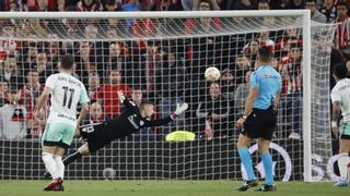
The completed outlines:
{"type": "Polygon", "coordinates": [[[199,103],[196,115],[202,125],[200,130],[205,131],[206,139],[229,136],[230,105],[222,97],[218,83],[210,84],[209,96],[199,103]]]}

